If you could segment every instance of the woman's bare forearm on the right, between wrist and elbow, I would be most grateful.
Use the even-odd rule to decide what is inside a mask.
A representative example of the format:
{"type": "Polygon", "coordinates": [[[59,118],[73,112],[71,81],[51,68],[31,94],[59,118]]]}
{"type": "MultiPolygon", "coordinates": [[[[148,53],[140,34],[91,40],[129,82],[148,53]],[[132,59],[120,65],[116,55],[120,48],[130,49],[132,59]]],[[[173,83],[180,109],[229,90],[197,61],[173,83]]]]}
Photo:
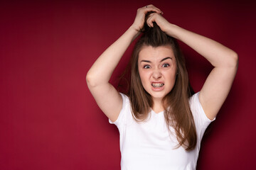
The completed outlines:
{"type": "Polygon", "coordinates": [[[206,58],[214,67],[237,67],[238,55],[219,42],[169,24],[166,33],[181,40],[206,58]]]}

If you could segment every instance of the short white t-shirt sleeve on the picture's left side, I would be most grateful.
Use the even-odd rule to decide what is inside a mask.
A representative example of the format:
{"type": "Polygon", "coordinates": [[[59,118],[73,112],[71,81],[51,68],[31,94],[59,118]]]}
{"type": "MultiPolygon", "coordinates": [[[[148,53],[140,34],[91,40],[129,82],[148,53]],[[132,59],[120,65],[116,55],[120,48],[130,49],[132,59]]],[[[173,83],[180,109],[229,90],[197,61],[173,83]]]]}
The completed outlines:
{"type": "Polygon", "coordinates": [[[112,122],[109,119],[109,122],[111,124],[117,125],[117,128],[119,128],[120,125],[124,124],[124,122],[126,121],[126,112],[127,112],[127,107],[129,107],[129,98],[128,96],[126,96],[125,94],[120,93],[122,96],[122,110],[120,111],[117,120],[115,120],[114,122],[112,122]]]}

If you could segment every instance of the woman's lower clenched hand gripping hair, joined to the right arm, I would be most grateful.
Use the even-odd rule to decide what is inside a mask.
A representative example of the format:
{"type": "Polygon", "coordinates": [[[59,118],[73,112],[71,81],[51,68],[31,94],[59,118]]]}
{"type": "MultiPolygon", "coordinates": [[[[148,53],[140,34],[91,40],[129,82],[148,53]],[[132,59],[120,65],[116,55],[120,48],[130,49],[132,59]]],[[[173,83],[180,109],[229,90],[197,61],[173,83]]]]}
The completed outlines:
{"type": "Polygon", "coordinates": [[[149,27],[154,27],[153,22],[156,22],[157,25],[161,28],[162,31],[166,33],[171,23],[164,18],[161,13],[151,13],[149,18],[147,19],[146,23],[149,27]]]}

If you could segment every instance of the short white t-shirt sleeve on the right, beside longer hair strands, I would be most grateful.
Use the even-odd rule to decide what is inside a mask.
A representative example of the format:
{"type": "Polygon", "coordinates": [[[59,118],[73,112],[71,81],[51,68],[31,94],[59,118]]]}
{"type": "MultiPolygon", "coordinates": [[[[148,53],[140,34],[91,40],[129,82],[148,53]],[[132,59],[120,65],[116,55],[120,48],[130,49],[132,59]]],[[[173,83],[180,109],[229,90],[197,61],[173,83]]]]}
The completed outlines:
{"type": "Polygon", "coordinates": [[[203,107],[199,101],[199,93],[200,92],[191,96],[189,103],[196,124],[196,132],[198,133],[198,137],[202,139],[206,128],[208,125],[210,125],[211,122],[213,122],[213,120],[215,120],[215,118],[213,120],[207,118],[206,113],[203,111],[203,107]]]}

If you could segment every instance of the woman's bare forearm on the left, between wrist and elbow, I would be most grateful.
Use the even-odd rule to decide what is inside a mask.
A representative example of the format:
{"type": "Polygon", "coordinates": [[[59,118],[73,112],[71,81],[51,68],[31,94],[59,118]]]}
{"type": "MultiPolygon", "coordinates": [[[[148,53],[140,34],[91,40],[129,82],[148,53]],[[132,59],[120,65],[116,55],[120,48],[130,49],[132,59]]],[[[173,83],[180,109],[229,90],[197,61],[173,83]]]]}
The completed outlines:
{"type": "Polygon", "coordinates": [[[138,35],[138,31],[130,27],[118,40],[110,45],[87,72],[87,82],[91,86],[107,83],[127,47],[138,35]]]}

